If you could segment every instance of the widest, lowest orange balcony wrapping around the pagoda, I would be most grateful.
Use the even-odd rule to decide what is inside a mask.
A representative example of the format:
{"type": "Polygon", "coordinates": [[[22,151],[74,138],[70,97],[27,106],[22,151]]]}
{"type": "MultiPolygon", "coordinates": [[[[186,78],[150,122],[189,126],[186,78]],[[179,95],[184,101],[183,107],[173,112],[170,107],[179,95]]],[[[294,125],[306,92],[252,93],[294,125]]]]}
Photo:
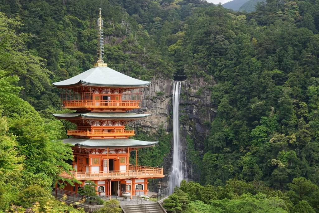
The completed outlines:
{"type": "Polygon", "coordinates": [[[63,172],[60,177],[77,180],[130,179],[130,178],[163,178],[163,168],[130,165],[127,171],[70,171],[63,172]]]}

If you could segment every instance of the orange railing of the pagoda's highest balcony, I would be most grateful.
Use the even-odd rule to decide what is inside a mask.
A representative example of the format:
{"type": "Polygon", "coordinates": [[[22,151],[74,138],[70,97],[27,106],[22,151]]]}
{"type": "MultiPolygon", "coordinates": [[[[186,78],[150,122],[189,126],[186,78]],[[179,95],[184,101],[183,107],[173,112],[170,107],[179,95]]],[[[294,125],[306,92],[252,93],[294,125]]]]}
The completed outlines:
{"type": "Polygon", "coordinates": [[[64,108],[122,108],[136,109],[139,108],[140,100],[72,100],[63,101],[64,108]]]}

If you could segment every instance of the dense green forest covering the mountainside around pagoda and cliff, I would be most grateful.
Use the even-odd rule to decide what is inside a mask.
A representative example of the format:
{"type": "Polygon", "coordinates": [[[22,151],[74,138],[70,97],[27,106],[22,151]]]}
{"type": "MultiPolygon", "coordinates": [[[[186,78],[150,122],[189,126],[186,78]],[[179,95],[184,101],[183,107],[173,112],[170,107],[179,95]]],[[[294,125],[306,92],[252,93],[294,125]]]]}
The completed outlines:
{"type": "MultiPolygon", "coordinates": [[[[314,0],[268,0],[251,13],[200,0],[0,0],[0,210],[69,208],[49,198],[72,159],[59,141],[68,124],[50,114],[62,110],[51,82],[93,66],[100,6],[113,69],[216,82],[217,117],[188,153],[203,186],[183,182],[167,204],[172,212],[319,212],[314,0]]],[[[164,132],[139,136],[160,141],[139,154],[145,165],[164,164],[164,132]]]]}

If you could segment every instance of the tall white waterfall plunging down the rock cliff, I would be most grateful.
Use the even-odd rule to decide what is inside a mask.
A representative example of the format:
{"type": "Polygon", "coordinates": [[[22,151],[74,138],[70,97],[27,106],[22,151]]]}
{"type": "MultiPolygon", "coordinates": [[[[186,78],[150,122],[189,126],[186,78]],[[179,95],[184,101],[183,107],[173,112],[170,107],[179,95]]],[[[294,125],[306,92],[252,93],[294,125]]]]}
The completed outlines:
{"type": "Polygon", "coordinates": [[[174,192],[175,186],[180,186],[183,176],[182,171],[182,148],[180,147],[179,138],[179,98],[181,94],[181,83],[177,81],[174,82],[173,86],[173,138],[174,138],[174,148],[173,148],[173,164],[172,171],[169,176],[169,188],[170,192],[174,192]]]}

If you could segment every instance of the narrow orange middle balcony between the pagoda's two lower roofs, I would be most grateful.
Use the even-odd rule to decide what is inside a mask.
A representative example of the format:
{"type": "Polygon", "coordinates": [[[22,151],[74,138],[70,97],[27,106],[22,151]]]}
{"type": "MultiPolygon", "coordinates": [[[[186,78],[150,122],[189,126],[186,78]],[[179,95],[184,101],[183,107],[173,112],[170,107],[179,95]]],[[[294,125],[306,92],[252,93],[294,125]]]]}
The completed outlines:
{"type": "Polygon", "coordinates": [[[135,135],[134,130],[68,130],[68,135],[83,136],[89,138],[128,138],[135,135]]]}

